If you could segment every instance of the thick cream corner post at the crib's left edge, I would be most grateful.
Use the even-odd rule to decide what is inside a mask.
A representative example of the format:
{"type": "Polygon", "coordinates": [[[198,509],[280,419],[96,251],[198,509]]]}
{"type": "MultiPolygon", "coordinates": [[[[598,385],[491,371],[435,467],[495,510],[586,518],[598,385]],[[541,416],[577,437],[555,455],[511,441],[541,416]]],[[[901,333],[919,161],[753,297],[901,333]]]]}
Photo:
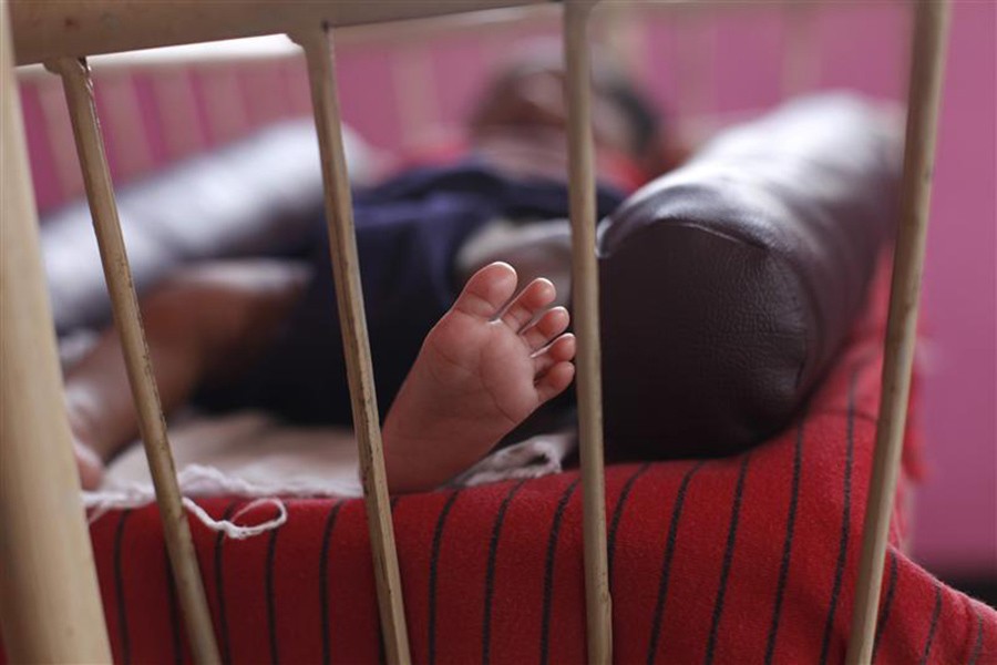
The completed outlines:
{"type": "Polygon", "coordinates": [[[0,632],[9,663],[110,663],[0,4],[0,632]]]}

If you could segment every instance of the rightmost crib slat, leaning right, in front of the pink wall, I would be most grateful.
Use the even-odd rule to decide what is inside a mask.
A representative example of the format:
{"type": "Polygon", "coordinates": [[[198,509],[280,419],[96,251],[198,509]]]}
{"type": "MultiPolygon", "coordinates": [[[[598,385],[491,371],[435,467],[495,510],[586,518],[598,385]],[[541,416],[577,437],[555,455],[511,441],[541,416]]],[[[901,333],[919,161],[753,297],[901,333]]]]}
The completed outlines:
{"type": "Polygon", "coordinates": [[[850,664],[868,663],[872,657],[886,538],[907,419],[948,32],[947,0],[914,2],[913,6],[915,28],[907,98],[903,200],[886,325],[876,450],[865,509],[862,560],[847,653],[850,664]]]}

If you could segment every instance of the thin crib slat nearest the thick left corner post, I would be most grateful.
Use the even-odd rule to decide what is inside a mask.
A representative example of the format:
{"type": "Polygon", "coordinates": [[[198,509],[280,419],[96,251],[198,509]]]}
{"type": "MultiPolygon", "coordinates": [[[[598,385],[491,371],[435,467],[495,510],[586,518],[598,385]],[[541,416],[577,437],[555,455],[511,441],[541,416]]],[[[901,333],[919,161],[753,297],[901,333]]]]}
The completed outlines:
{"type": "Polygon", "coordinates": [[[145,345],[138,300],[132,285],[132,272],[121,234],[90,70],[84,60],[69,58],[47,66],[62,76],[65,90],[76,152],[83,168],[86,196],[104,266],[104,277],[111,293],[114,320],[121,336],[132,397],[138,413],[138,429],[156,490],[177,596],[191,638],[191,651],[197,663],[218,663],[220,661],[212,616],[201,582],[187,513],[181,503],[173,454],[166,438],[166,421],[160,408],[155,375],[145,345]]]}

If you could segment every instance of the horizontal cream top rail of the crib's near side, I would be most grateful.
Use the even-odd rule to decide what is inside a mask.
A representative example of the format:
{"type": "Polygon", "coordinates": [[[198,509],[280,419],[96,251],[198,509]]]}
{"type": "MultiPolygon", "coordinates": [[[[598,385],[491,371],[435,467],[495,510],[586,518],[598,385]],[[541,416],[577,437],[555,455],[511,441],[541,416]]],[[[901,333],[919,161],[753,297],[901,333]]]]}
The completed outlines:
{"type": "Polygon", "coordinates": [[[134,51],[196,42],[307,31],[314,25],[360,25],[429,18],[549,0],[226,0],[169,2],[146,0],[13,0],[18,64],[62,57],[134,51]]]}

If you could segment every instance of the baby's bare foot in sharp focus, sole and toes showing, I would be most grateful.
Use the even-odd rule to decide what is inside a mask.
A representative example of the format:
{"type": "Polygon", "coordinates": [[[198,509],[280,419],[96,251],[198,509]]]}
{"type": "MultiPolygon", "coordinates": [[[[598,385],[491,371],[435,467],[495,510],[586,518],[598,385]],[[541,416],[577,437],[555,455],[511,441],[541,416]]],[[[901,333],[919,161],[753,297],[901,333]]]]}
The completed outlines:
{"type": "Polygon", "coordinates": [[[547,309],[546,279],[516,290],[516,273],[491,264],[471,277],[426,336],[384,421],[392,492],[429,490],[464,471],[575,375],[568,313],[547,309]]]}

